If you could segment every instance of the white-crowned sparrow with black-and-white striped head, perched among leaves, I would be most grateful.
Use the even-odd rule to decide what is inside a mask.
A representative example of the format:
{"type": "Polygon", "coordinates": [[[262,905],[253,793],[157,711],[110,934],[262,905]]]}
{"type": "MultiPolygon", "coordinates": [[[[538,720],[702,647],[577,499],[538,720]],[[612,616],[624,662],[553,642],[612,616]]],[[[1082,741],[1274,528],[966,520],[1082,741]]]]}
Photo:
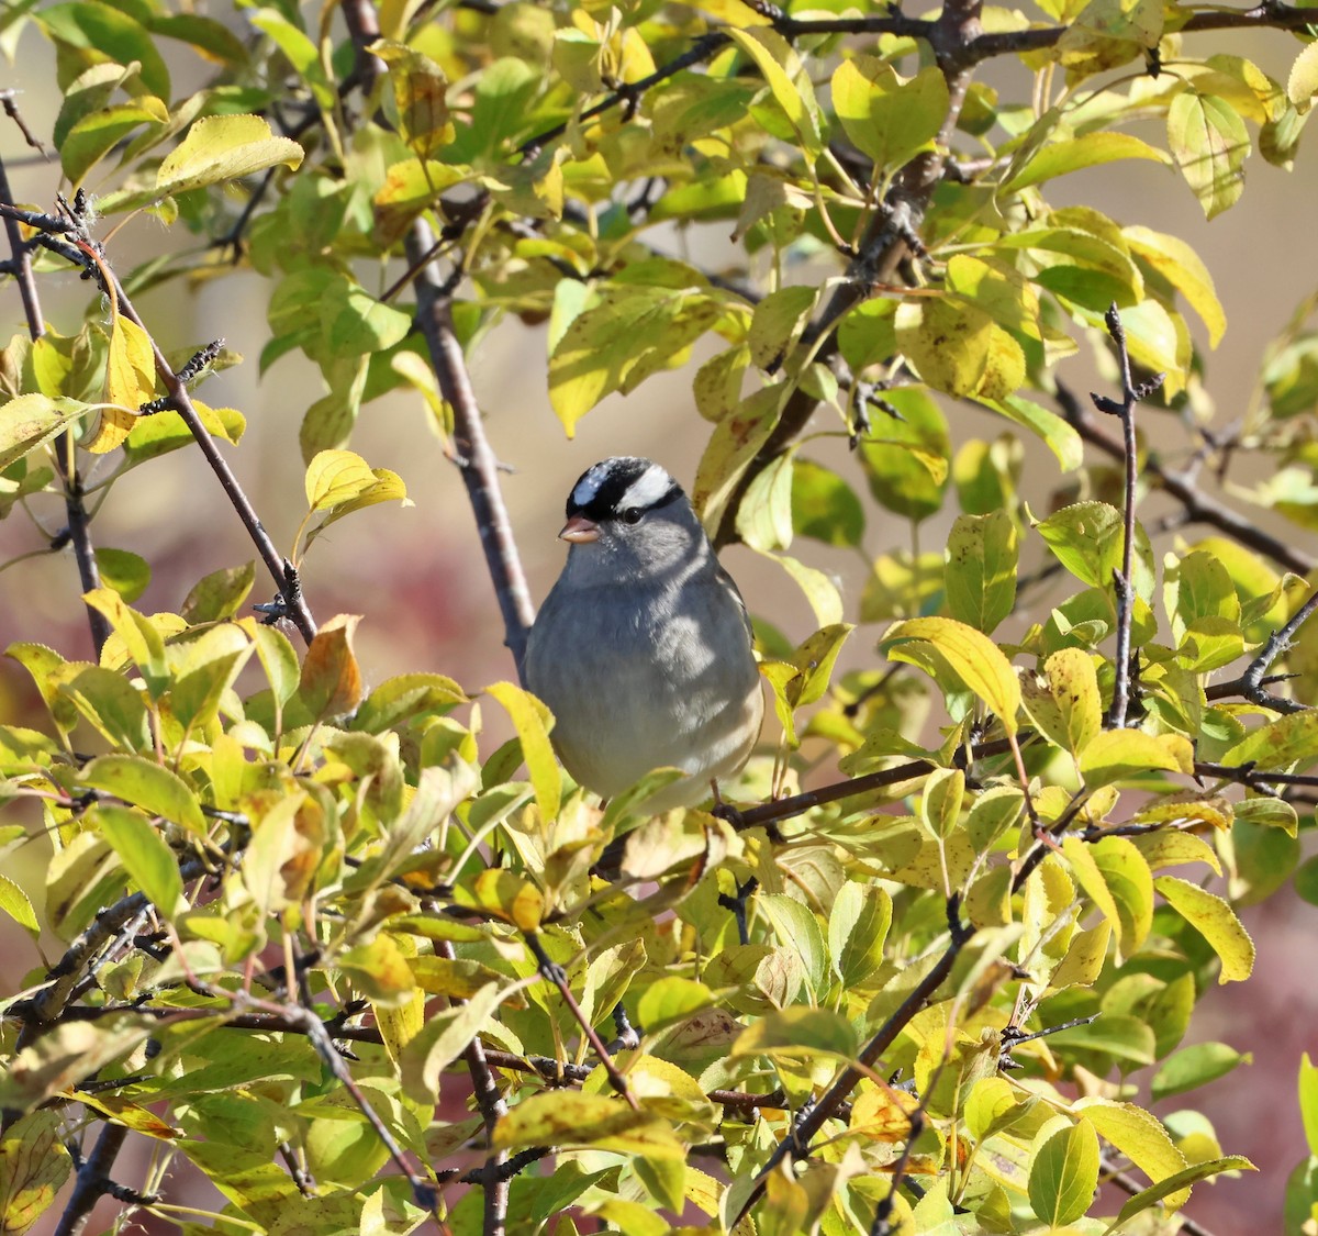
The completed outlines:
{"type": "Polygon", "coordinates": [[[567,517],[568,560],[526,647],[554,747],[601,797],[672,766],[687,776],[645,808],[699,802],[746,763],[764,716],[741,593],[681,486],[650,460],[587,469],[567,517]]]}

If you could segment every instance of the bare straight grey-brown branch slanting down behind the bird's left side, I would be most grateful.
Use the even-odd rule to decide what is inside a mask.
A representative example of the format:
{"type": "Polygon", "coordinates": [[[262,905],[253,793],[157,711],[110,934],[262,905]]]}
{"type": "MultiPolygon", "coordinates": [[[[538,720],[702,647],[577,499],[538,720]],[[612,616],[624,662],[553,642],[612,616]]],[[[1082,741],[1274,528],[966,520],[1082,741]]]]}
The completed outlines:
{"type": "Polygon", "coordinates": [[[416,306],[422,333],[430,349],[430,362],[439,387],[453,408],[453,447],[457,469],[476,517],[485,564],[494,584],[503,617],[503,642],[513,652],[518,677],[526,655],[526,636],[535,621],[531,593],[526,586],[522,560],[513,539],[513,527],[500,489],[498,460],[485,437],[481,410],[476,403],[463,345],[453,329],[452,295],[435,262],[422,262],[435,244],[434,232],[418,220],[407,232],[407,261],[419,265],[416,306]]]}

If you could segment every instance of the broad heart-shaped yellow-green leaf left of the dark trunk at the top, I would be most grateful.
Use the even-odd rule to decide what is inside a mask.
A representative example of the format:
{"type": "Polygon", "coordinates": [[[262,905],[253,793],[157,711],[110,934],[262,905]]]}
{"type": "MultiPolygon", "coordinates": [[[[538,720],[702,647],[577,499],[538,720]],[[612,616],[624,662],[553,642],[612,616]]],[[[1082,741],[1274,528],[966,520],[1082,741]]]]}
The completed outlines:
{"type": "Polygon", "coordinates": [[[887,61],[857,55],[834,71],[832,95],[846,136],[880,170],[931,149],[948,115],[948,82],[934,65],[905,80],[887,61]]]}

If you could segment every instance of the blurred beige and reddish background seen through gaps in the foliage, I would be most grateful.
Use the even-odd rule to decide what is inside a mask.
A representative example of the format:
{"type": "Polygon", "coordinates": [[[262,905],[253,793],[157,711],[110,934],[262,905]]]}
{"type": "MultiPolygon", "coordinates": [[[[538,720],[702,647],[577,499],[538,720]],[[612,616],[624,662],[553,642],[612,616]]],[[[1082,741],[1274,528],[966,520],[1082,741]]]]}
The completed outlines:
{"type": "MultiPolygon", "coordinates": [[[[1282,34],[1195,37],[1217,40],[1210,50],[1249,57],[1282,80],[1296,49],[1294,41],[1282,34]]],[[[195,59],[173,57],[170,67],[181,75],[177,94],[192,88],[185,82],[196,71],[195,59]]],[[[29,128],[38,137],[49,134],[58,109],[54,63],[49,45],[34,30],[21,38],[8,84],[18,92],[16,101],[29,128]]],[[[1141,136],[1162,144],[1156,128],[1141,136]]],[[[47,162],[34,155],[7,121],[0,123],[0,153],[16,199],[49,210],[62,187],[58,159],[47,162]]],[[[1301,146],[1292,174],[1255,155],[1246,165],[1246,175],[1242,202],[1211,224],[1205,223],[1184,181],[1153,163],[1123,162],[1072,175],[1056,182],[1050,191],[1058,204],[1095,206],[1120,223],[1172,232],[1189,241],[1205,260],[1230,323],[1218,351],[1206,357],[1205,385],[1219,422],[1243,412],[1268,341],[1318,285],[1314,210],[1318,149],[1313,134],[1307,146],[1301,146]]],[[[722,269],[738,260],[729,231],[729,224],[688,233],[656,231],[651,239],[668,253],[689,254],[706,267],[722,269]]],[[[195,242],[182,227],[167,229],[154,219],[138,216],[115,237],[109,258],[123,273],[162,250],[195,242]]],[[[805,277],[801,271],[800,279],[805,277]]],[[[88,299],[95,295],[72,271],[42,277],[40,291],[46,319],[66,333],[78,329],[88,299]]],[[[304,408],[323,394],[323,387],[318,370],[297,354],[283,357],[258,379],[256,358],[268,333],[266,295],[265,281],[235,271],[194,289],[173,285],[144,293],[136,303],[167,352],[223,337],[229,348],[246,357],[243,365],[208,379],[202,397],[212,406],[233,406],[246,416],[241,445],[224,448],[224,453],[275,544],[290,552],[306,501],[298,426],[304,408]]],[[[94,307],[96,311],[101,310],[94,307]]],[[[0,325],[5,328],[4,341],[24,331],[22,306],[12,281],[0,283],[0,325]]],[[[683,370],[652,378],[630,398],[609,398],[581,422],[577,436],[568,440],[546,395],[544,329],[506,320],[482,340],[471,358],[472,377],[492,445],[509,468],[503,494],[536,601],[561,564],[564,547],[555,536],[563,520],[563,501],[587,466],[609,455],[648,455],[689,485],[709,431],[695,412],[689,386],[696,366],[712,351],[697,345],[683,370]]],[[[1103,389],[1098,386],[1094,358],[1083,347],[1065,364],[1062,377],[1077,391],[1103,389]]],[[[994,437],[1006,428],[991,415],[963,406],[946,406],[945,411],[954,444],[967,437],[994,437]]],[[[825,422],[825,414],[817,420],[820,428],[838,428],[825,422]]],[[[1166,414],[1151,414],[1143,426],[1155,439],[1165,427],[1170,431],[1169,441],[1184,443],[1178,427],[1170,422],[1166,414]],[[1159,426],[1159,419],[1165,426],[1159,426]]],[[[1049,452],[1033,441],[1025,445],[1021,488],[1036,511],[1046,510],[1052,492],[1065,478],[1049,452]]],[[[373,507],[344,519],[319,539],[303,571],[304,590],[316,618],[324,622],[336,613],[364,615],[357,652],[368,684],[401,672],[435,671],[476,690],[514,677],[465,490],[428,427],[419,397],[394,395],[368,405],[352,448],[372,466],[399,473],[415,505],[373,507]]],[[[862,484],[847,466],[845,440],[821,440],[805,453],[862,484]]],[[[95,480],[92,474],[90,481],[95,480]]],[[[873,506],[867,510],[871,522],[865,548],[870,556],[909,544],[908,526],[891,518],[876,519],[873,506]]],[[[40,551],[63,526],[58,502],[34,503],[33,511],[43,531],[21,509],[0,522],[0,563],[40,551]]],[[[952,513],[945,522],[929,520],[920,532],[921,548],[942,544],[950,518],[952,513]]],[[[98,547],[130,549],[150,564],[152,584],[136,602],[146,613],[177,611],[203,575],[254,556],[212,474],[190,449],[149,463],[116,485],[96,511],[92,535],[98,547]]],[[[1286,535],[1318,540],[1292,526],[1286,527],[1286,535]]],[[[1033,549],[1037,548],[1036,544],[1033,549]]],[[[1318,544],[1306,548],[1314,552],[1318,544]]],[[[853,617],[867,561],[854,552],[813,543],[799,542],[793,552],[838,576],[853,617]]],[[[754,613],[767,617],[793,640],[804,639],[815,629],[809,607],[778,567],[745,548],[730,549],[725,563],[754,613]]],[[[1028,560],[1023,569],[1029,569],[1028,560]]],[[[269,578],[258,569],[252,600],[268,601],[272,594],[269,578]]],[[[70,551],[42,553],[3,568],[0,647],[34,640],[69,659],[90,658],[91,640],[78,596],[78,573],[70,551]]],[[[1031,594],[1020,621],[1040,619],[1048,605],[1046,594],[1031,594]]],[[[857,631],[846,664],[871,663],[878,634],[876,627],[857,631]]],[[[34,700],[26,673],[13,661],[0,659],[0,721],[42,725],[34,700]]],[[[494,730],[485,750],[493,750],[503,730],[496,709],[485,713],[494,730]]],[[[820,776],[832,779],[832,772],[824,768],[820,776]]],[[[18,870],[9,874],[29,884],[45,862],[43,849],[28,846],[17,855],[18,870]]],[[[1304,1050],[1318,1054],[1314,1032],[1318,991],[1305,980],[1304,969],[1313,954],[1318,911],[1286,889],[1264,905],[1247,908],[1242,917],[1260,946],[1255,978],[1248,984],[1213,992],[1193,1032],[1253,1053],[1251,1066],[1191,1098],[1214,1120],[1224,1150],[1247,1154],[1261,1169],[1256,1175],[1195,1190],[1191,1212],[1218,1233],[1280,1229],[1284,1181],[1304,1153],[1294,1086],[1300,1054],[1304,1050]]],[[[0,992],[16,991],[40,961],[28,938],[9,926],[0,922],[0,992]]],[[[58,955],[57,942],[51,941],[50,947],[58,955]]],[[[130,1182],[130,1175],[127,1178],[130,1182]]]]}

